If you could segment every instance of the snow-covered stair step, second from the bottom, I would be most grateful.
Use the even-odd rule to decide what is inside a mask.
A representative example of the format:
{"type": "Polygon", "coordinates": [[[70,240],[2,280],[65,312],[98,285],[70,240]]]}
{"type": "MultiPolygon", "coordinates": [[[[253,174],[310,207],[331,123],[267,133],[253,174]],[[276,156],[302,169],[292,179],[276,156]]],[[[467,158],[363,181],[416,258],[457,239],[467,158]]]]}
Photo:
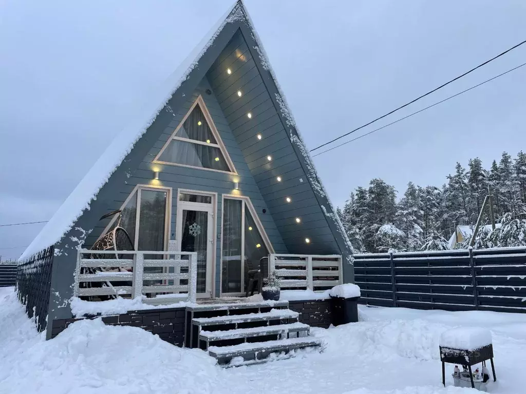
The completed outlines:
{"type": "Polygon", "coordinates": [[[290,323],[280,324],[278,326],[266,326],[266,327],[251,327],[251,328],[238,328],[233,330],[222,330],[222,331],[201,331],[199,333],[199,339],[204,341],[216,341],[216,340],[227,340],[227,339],[238,339],[238,338],[252,338],[266,335],[279,335],[287,333],[298,333],[307,332],[309,333],[309,325],[303,323],[290,323]]]}

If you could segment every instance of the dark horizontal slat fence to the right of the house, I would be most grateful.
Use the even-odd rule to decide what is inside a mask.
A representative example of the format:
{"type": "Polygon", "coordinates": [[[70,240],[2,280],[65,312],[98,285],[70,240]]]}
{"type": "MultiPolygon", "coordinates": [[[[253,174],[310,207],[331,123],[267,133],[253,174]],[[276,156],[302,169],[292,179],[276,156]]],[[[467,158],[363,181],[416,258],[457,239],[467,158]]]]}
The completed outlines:
{"type": "Polygon", "coordinates": [[[526,313],[526,248],[355,255],[361,303],[526,313]]]}

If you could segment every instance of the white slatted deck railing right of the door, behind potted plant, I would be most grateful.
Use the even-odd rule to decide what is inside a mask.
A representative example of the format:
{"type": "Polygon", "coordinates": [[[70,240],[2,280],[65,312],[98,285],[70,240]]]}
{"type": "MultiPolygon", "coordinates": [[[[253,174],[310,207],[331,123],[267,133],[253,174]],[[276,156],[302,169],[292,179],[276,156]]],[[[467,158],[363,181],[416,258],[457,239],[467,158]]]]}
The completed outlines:
{"type": "Polygon", "coordinates": [[[340,255],[271,254],[269,272],[281,288],[322,291],[343,283],[340,255]]]}

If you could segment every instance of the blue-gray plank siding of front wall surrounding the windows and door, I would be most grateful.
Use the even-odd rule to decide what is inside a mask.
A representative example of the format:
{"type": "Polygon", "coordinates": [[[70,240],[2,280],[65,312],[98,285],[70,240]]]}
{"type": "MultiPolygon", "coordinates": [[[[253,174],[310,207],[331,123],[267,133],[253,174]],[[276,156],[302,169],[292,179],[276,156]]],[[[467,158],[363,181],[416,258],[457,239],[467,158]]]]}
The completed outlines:
{"type": "MultiPolygon", "coordinates": [[[[247,162],[245,161],[244,155],[239,148],[239,145],[230,130],[228,121],[226,120],[219,103],[217,102],[214,94],[207,94],[207,89],[211,87],[208,84],[206,78],[204,78],[194,94],[189,96],[186,102],[178,109],[172,109],[174,111],[173,121],[170,122],[169,126],[165,128],[160,138],[149,150],[146,157],[141,161],[136,171],[131,174],[127,179],[126,184],[119,189],[119,193],[116,199],[113,201],[112,206],[108,206],[108,211],[117,210],[122,206],[128,195],[133,191],[137,184],[156,184],[159,186],[165,186],[172,188],[173,198],[171,201],[171,217],[170,217],[170,239],[176,239],[176,216],[177,216],[177,190],[178,189],[190,189],[198,190],[203,192],[215,192],[218,193],[217,203],[217,215],[216,218],[216,275],[214,278],[216,285],[216,295],[219,295],[219,278],[220,278],[220,255],[221,255],[221,206],[222,206],[222,194],[232,194],[234,190],[234,178],[239,179],[239,191],[243,196],[248,196],[252,205],[258,214],[259,220],[263,225],[266,234],[274,247],[276,253],[287,253],[287,247],[282,240],[281,234],[279,233],[272,215],[269,213],[269,206],[262,197],[256,181],[252,177],[252,174],[248,168],[247,162]],[[181,167],[178,165],[167,165],[167,164],[155,164],[154,159],[159,151],[164,147],[166,141],[174,133],[179,123],[183,120],[186,113],[189,111],[191,105],[197,100],[198,96],[201,95],[205,101],[205,105],[210,112],[210,116],[214,121],[219,136],[230,155],[230,159],[234,163],[234,167],[238,175],[232,175],[224,172],[208,171],[195,168],[181,167]],[[158,167],[159,171],[159,182],[152,183],[153,168],[158,167]],[[267,213],[262,213],[263,210],[267,213]]],[[[87,239],[87,244],[93,244],[96,237],[104,230],[104,227],[108,221],[99,222],[98,226],[94,229],[87,239]]]]}

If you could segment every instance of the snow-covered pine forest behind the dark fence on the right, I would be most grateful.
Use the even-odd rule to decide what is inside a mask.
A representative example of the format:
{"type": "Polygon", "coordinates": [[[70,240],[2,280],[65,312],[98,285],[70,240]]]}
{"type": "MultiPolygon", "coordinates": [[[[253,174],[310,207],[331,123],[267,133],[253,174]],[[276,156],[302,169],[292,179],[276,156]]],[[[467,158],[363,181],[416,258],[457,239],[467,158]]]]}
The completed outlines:
{"type": "MultiPolygon", "coordinates": [[[[446,250],[457,225],[477,222],[488,186],[493,195],[495,221],[502,226],[482,228],[476,248],[526,245],[526,153],[507,152],[489,169],[479,158],[465,169],[457,162],[447,182],[419,186],[412,182],[403,195],[382,179],[359,187],[338,214],[357,253],[446,250]]],[[[485,215],[482,224],[489,224],[485,215]]],[[[469,240],[460,247],[467,248],[469,240]]]]}

